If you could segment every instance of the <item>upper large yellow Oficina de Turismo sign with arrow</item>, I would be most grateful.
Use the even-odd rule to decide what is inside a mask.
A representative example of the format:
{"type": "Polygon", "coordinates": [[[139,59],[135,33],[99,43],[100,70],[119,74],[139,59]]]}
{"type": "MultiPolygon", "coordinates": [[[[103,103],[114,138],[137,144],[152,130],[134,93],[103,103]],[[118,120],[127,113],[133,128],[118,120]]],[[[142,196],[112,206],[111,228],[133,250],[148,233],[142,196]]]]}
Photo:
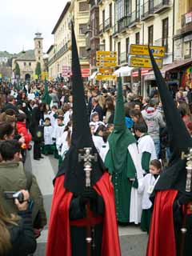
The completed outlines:
{"type": "MultiPolygon", "coordinates": [[[[150,50],[154,54],[154,57],[164,57],[165,56],[165,47],[163,47],[163,46],[150,46],[150,50]]],[[[148,46],[130,45],[130,54],[149,55],[148,46]]]]}

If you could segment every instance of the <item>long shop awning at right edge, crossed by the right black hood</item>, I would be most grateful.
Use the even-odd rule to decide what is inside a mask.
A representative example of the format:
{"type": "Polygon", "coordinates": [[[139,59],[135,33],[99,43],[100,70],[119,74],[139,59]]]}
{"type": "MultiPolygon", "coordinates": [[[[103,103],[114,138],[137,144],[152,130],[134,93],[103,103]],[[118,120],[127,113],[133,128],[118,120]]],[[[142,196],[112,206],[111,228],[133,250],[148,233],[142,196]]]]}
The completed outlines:
{"type": "MultiPolygon", "coordinates": [[[[184,66],[188,66],[192,64],[192,59],[185,59],[185,60],[181,60],[178,62],[173,62],[171,64],[168,64],[166,66],[163,66],[161,69],[161,73],[162,73],[162,77],[165,78],[166,77],[166,72],[170,72],[172,70],[177,70],[179,68],[182,68],[184,66]]],[[[151,70],[148,74],[145,75],[145,80],[154,80],[154,71],[151,70]]]]}

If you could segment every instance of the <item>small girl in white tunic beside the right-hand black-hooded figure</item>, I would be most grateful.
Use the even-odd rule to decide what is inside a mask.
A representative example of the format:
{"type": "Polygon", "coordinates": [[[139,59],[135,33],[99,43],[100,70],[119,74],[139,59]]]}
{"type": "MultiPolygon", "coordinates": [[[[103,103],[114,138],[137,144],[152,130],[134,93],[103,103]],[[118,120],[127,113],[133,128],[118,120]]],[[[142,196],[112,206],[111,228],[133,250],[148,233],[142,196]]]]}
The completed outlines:
{"type": "MultiPolygon", "coordinates": [[[[155,184],[158,182],[159,174],[162,171],[162,164],[158,159],[150,162],[150,173],[144,178],[138,180],[138,193],[142,194],[142,231],[150,230],[150,220],[152,214],[152,202],[150,202],[150,194],[154,190],[155,184]]],[[[166,218],[166,216],[165,216],[166,218]]]]}

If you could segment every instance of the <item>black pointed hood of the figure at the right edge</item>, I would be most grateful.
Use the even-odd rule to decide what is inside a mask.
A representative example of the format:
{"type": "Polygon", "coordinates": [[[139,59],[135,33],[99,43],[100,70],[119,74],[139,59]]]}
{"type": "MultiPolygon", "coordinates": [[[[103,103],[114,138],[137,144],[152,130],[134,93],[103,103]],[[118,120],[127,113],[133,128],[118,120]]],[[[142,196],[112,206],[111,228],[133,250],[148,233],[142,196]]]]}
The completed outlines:
{"type": "MultiPolygon", "coordinates": [[[[149,48],[150,51],[150,48],[149,48]]],[[[165,80],[158,69],[154,56],[150,51],[150,60],[154,69],[158,91],[162,100],[162,107],[166,118],[166,126],[170,136],[170,144],[174,150],[170,166],[164,170],[154,190],[179,190],[185,193],[186,188],[186,160],[181,159],[182,151],[188,152],[192,147],[192,138],[186,130],[185,123],[178,112],[174,100],[166,86],[165,80]]]]}

